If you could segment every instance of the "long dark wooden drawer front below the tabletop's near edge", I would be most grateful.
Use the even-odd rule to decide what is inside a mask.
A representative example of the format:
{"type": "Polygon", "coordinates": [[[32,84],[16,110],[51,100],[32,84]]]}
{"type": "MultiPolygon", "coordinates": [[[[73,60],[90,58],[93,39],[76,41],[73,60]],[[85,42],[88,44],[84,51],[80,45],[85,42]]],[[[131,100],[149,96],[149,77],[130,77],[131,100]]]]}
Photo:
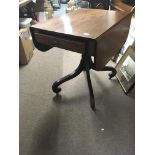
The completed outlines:
{"type": "Polygon", "coordinates": [[[38,43],[42,43],[44,45],[49,45],[51,47],[59,47],[78,53],[84,53],[85,51],[85,43],[82,43],[80,41],[74,41],[40,33],[34,33],[34,36],[35,40],[38,43]]]}

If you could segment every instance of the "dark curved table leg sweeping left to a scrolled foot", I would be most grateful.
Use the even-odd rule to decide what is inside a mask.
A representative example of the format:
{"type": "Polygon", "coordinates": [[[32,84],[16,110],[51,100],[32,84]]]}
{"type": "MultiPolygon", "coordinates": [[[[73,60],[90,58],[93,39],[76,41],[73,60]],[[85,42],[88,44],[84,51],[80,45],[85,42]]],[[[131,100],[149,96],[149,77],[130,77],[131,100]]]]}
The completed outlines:
{"type": "Polygon", "coordinates": [[[75,71],[73,71],[71,74],[66,75],[65,77],[63,77],[53,83],[53,85],[52,85],[53,92],[59,93],[61,91],[61,88],[59,88],[58,86],[68,80],[73,79],[77,75],[79,75],[82,72],[83,68],[84,68],[84,61],[83,61],[83,59],[81,59],[81,62],[75,71]]]}

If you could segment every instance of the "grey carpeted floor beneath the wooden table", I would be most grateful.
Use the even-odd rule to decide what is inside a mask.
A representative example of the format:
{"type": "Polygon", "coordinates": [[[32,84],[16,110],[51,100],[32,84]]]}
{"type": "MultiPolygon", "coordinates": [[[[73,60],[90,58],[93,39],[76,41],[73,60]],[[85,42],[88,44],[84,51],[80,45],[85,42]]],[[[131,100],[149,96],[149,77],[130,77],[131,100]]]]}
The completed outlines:
{"type": "Polygon", "coordinates": [[[61,85],[52,83],[71,73],[80,55],[53,48],[35,49],[20,67],[20,155],[134,155],[134,92],[125,95],[116,78],[92,71],[96,112],[89,106],[85,73],[61,85]]]}

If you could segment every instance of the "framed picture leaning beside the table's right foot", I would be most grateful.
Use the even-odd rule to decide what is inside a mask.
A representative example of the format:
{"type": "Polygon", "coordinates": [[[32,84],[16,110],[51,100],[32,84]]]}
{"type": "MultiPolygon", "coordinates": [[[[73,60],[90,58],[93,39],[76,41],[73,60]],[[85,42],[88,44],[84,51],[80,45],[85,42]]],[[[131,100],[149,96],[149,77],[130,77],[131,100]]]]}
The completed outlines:
{"type": "Polygon", "coordinates": [[[135,52],[132,46],[127,48],[115,69],[116,77],[127,94],[135,84],[135,52]]]}

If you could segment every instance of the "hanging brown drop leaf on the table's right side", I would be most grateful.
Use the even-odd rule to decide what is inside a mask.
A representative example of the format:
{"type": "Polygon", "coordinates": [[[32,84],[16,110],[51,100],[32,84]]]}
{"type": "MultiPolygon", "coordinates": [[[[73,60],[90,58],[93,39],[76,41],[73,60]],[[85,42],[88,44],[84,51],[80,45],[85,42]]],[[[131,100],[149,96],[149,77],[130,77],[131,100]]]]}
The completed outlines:
{"type": "Polygon", "coordinates": [[[114,54],[124,45],[129,33],[131,17],[132,13],[128,14],[97,40],[98,46],[96,48],[96,59],[94,62],[96,70],[102,70],[114,54]]]}

